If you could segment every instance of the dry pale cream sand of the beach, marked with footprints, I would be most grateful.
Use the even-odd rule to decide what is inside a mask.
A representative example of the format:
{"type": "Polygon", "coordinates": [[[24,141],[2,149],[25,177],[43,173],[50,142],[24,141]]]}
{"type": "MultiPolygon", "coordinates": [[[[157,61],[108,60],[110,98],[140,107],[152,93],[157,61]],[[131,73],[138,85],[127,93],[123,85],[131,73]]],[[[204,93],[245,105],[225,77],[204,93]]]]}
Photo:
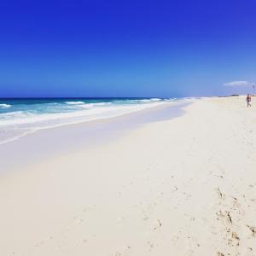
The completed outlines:
{"type": "Polygon", "coordinates": [[[256,255],[252,105],[203,98],[84,148],[4,155],[16,166],[1,168],[0,255],[256,255]]]}

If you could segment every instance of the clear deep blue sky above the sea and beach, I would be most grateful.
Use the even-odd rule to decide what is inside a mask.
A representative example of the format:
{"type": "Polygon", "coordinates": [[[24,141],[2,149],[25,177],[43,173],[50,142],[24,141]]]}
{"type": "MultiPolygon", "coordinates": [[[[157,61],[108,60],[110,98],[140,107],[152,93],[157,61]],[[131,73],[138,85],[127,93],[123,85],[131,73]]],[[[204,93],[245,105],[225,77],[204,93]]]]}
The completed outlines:
{"type": "Polygon", "coordinates": [[[208,96],[256,81],[256,1],[0,1],[0,96],[208,96]]]}

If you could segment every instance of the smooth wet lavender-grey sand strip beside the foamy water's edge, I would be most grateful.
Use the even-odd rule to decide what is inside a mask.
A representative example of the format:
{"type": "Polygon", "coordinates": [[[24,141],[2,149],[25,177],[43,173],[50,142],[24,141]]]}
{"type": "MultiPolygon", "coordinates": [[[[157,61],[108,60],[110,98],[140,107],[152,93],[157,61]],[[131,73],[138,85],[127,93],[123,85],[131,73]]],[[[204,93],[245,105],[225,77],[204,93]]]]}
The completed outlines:
{"type": "Polygon", "coordinates": [[[61,154],[108,143],[140,125],[175,118],[183,114],[183,108],[189,103],[191,102],[187,100],[166,102],[116,117],[60,125],[28,133],[9,143],[0,144],[1,170],[9,172],[38,160],[44,161],[61,154]],[[9,161],[13,155],[15,163],[9,161]]]}

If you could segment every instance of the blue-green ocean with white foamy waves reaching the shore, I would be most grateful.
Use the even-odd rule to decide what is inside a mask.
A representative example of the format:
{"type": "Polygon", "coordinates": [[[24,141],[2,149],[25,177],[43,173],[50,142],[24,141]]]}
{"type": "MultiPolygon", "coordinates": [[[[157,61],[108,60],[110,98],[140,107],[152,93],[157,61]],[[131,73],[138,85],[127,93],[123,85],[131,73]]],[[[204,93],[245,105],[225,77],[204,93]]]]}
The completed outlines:
{"type": "Polygon", "coordinates": [[[42,129],[107,119],[175,101],[176,98],[0,99],[0,144],[42,129]]]}

